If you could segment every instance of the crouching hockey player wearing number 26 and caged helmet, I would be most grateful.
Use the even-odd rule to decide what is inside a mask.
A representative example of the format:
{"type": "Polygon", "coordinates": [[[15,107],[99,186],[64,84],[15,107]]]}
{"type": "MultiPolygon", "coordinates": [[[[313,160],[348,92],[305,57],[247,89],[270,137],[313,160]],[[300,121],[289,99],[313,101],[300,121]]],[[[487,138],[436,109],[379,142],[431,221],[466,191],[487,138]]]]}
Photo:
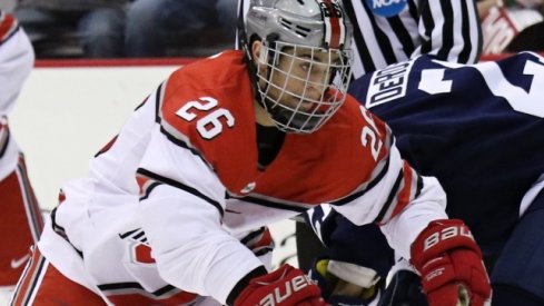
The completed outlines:
{"type": "Polygon", "coordinates": [[[468,228],[346,93],[338,1],[251,1],[241,30],[244,51],[175,71],[62,187],[12,305],[326,305],[301,270],[269,270],[266,228],[323,203],[382,225],[423,275],[446,269],[429,294],[457,300],[463,284],[482,305],[468,228]]]}

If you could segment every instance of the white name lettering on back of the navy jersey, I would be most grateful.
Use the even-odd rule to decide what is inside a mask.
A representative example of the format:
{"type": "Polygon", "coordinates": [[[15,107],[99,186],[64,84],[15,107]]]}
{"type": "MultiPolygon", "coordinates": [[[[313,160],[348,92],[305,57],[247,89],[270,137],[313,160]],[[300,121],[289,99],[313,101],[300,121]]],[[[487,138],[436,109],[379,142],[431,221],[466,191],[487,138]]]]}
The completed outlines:
{"type": "Polygon", "coordinates": [[[372,108],[404,97],[413,65],[414,61],[399,62],[374,72],[366,93],[366,107],[372,108]]]}

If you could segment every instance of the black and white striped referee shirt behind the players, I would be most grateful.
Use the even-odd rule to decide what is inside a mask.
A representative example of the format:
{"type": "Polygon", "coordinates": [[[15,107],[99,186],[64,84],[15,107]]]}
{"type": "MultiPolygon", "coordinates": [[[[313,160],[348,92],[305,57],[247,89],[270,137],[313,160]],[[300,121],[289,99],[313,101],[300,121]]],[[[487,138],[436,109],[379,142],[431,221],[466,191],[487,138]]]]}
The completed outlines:
{"type": "MultiPolygon", "coordinates": [[[[406,2],[392,17],[375,13],[373,1],[379,0],[343,1],[354,23],[355,78],[422,53],[461,63],[479,60],[483,39],[474,0],[380,1],[406,2]]],[[[239,4],[239,13],[247,12],[249,0],[239,4]]]]}

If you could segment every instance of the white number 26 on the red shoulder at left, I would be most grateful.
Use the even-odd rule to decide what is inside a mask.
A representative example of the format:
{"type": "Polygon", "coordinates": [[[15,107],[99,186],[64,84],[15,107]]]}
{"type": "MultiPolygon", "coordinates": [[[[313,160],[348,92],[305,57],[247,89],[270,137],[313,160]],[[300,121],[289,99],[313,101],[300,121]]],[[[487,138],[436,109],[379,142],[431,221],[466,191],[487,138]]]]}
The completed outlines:
{"type": "Polygon", "coordinates": [[[192,121],[197,118],[197,115],[191,112],[192,108],[198,110],[208,111],[206,116],[197,120],[197,131],[205,139],[212,139],[222,131],[222,125],[231,128],[235,125],[235,118],[225,108],[216,108],[217,100],[211,97],[200,97],[198,101],[188,101],[185,103],[176,115],[187,121],[192,121]],[[222,120],[220,118],[222,117],[222,120]]]}

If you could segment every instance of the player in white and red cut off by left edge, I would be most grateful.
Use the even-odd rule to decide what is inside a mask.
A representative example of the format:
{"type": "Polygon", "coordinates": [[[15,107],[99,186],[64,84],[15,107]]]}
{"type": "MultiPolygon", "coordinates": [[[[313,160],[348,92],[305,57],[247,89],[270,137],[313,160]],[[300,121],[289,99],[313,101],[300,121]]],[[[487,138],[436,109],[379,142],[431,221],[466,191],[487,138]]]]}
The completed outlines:
{"type": "Polygon", "coordinates": [[[27,34],[13,16],[0,10],[0,290],[13,289],[43,227],[24,156],[8,121],[33,62],[27,34]]]}

